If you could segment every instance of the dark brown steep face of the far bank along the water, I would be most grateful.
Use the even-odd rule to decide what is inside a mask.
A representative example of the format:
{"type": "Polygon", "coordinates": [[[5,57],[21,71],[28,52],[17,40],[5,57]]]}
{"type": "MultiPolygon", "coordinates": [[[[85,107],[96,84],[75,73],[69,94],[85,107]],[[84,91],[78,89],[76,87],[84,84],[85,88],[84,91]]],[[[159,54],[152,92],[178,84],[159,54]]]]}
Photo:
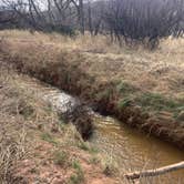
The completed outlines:
{"type": "MultiPolygon", "coordinates": [[[[103,82],[88,75],[79,67],[79,62],[82,60],[80,53],[75,53],[71,58],[70,52],[63,51],[57,61],[44,61],[44,63],[33,60],[30,55],[11,54],[7,49],[1,49],[1,54],[3,61],[8,65],[12,65],[18,72],[39,79],[69,92],[73,96],[78,96],[95,112],[114,116],[129,126],[173,143],[182,150],[184,149],[183,123],[173,117],[165,119],[166,115],[159,117],[150,112],[144,112],[134,102],[126,100],[120,108],[120,93],[116,90],[116,81],[103,82]],[[69,59],[75,62],[70,62],[69,59]]],[[[90,123],[89,119],[86,122],[90,123]]]]}

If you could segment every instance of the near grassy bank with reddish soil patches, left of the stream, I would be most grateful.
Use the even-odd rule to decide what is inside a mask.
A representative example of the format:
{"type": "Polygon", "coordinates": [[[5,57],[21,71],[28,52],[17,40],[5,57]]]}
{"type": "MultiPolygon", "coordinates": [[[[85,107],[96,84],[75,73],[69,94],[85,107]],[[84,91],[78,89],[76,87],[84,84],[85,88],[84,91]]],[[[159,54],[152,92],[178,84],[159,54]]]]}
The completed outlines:
{"type": "Polygon", "coordinates": [[[0,183],[115,183],[74,126],[19,85],[23,78],[0,62],[0,183]]]}

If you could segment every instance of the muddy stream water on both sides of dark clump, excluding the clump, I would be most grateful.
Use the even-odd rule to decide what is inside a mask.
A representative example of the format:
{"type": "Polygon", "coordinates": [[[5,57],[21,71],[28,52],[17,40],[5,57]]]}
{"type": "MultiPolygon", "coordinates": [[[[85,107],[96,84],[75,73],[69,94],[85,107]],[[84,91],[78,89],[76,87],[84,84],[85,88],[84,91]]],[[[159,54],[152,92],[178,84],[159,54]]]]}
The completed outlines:
{"type": "MultiPolygon", "coordinates": [[[[78,105],[74,98],[37,80],[23,81],[20,85],[34,92],[59,111],[68,111],[69,104],[78,105]]],[[[141,171],[184,161],[184,152],[168,143],[133,130],[113,117],[98,113],[92,113],[92,117],[96,129],[90,142],[104,156],[111,157],[109,162],[116,163],[119,167],[141,171]]],[[[184,171],[173,172],[170,180],[167,177],[168,175],[163,176],[162,183],[184,183],[184,171]]]]}

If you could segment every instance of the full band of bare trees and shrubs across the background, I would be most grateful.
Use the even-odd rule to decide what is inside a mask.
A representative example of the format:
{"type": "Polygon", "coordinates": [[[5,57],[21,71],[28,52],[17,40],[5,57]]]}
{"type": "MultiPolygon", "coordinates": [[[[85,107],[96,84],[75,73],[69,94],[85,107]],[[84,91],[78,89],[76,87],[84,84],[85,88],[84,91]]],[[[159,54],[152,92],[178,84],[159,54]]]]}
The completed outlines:
{"type": "Polygon", "coordinates": [[[110,34],[112,41],[149,43],[184,33],[183,0],[0,0],[0,28],[110,34]],[[2,8],[3,7],[3,8],[2,8]]]}

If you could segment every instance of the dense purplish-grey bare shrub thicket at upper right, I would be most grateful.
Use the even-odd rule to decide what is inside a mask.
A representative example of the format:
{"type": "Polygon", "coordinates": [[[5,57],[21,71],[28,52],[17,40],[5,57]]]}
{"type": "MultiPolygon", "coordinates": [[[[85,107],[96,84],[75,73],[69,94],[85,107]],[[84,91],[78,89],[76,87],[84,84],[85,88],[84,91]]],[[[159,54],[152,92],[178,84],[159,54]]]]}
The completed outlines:
{"type": "Polygon", "coordinates": [[[111,35],[120,42],[147,42],[153,49],[159,39],[183,33],[183,0],[110,0],[104,19],[111,35]],[[109,11],[111,10],[111,11],[109,11]]]}

